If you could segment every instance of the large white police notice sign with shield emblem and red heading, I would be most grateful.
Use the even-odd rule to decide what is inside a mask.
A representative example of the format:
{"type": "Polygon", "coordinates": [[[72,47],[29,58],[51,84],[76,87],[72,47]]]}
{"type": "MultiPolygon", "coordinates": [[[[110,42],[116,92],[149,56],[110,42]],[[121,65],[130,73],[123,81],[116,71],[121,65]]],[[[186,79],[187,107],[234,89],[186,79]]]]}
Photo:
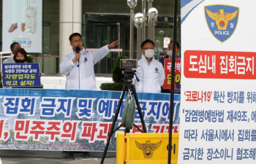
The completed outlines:
{"type": "Polygon", "coordinates": [[[179,164],[256,162],[255,5],[181,0],[179,164]]]}

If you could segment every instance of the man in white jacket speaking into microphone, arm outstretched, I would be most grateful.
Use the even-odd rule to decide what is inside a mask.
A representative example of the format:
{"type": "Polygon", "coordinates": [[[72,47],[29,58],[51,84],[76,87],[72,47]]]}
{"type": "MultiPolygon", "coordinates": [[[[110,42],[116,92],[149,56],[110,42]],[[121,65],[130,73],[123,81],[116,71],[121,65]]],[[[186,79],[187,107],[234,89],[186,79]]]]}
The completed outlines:
{"type": "Polygon", "coordinates": [[[82,36],[74,33],[69,36],[72,52],[65,55],[59,68],[66,75],[67,90],[96,90],[94,65],[118,45],[118,40],[105,45],[94,52],[86,52],[83,48],[82,36]]]}

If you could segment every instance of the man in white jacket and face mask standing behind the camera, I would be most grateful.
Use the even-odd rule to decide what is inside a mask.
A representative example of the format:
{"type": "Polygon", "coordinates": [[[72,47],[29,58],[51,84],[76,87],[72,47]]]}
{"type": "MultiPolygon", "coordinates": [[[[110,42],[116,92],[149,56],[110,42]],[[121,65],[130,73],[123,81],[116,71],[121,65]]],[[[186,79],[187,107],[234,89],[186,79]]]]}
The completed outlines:
{"type": "Polygon", "coordinates": [[[137,92],[160,93],[161,87],[165,82],[165,70],[162,64],[154,59],[154,42],[146,39],[141,44],[141,59],[138,60],[137,77],[132,79],[137,92]]]}

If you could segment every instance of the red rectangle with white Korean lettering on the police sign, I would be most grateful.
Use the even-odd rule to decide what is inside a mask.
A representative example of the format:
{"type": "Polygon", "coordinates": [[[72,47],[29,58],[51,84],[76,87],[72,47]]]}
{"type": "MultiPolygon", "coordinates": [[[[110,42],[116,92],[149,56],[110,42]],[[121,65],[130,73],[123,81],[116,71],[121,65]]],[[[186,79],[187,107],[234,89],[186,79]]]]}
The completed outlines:
{"type": "Polygon", "coordinates": [[[184,76],[206,79],[256,79],[256,52],[184,52],[184,76]]]}

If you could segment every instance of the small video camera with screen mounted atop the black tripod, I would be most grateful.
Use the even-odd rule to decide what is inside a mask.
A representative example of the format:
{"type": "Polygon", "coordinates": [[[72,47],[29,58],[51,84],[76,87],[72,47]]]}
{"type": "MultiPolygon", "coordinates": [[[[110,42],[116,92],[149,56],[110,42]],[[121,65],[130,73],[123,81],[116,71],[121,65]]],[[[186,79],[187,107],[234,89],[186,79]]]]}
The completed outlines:
{"type": "MultiPolygon", "coordinates": [[[[138,60],[137,59],[120,59],[120,69],[125,69],[124,74],[124,82],[127,84],[132,84],[132,79],[134,75],[136,76],[135,72],[138,68],[138,60]]],[[[137,81],[140,81],[136,76],[137,81]]]]}

